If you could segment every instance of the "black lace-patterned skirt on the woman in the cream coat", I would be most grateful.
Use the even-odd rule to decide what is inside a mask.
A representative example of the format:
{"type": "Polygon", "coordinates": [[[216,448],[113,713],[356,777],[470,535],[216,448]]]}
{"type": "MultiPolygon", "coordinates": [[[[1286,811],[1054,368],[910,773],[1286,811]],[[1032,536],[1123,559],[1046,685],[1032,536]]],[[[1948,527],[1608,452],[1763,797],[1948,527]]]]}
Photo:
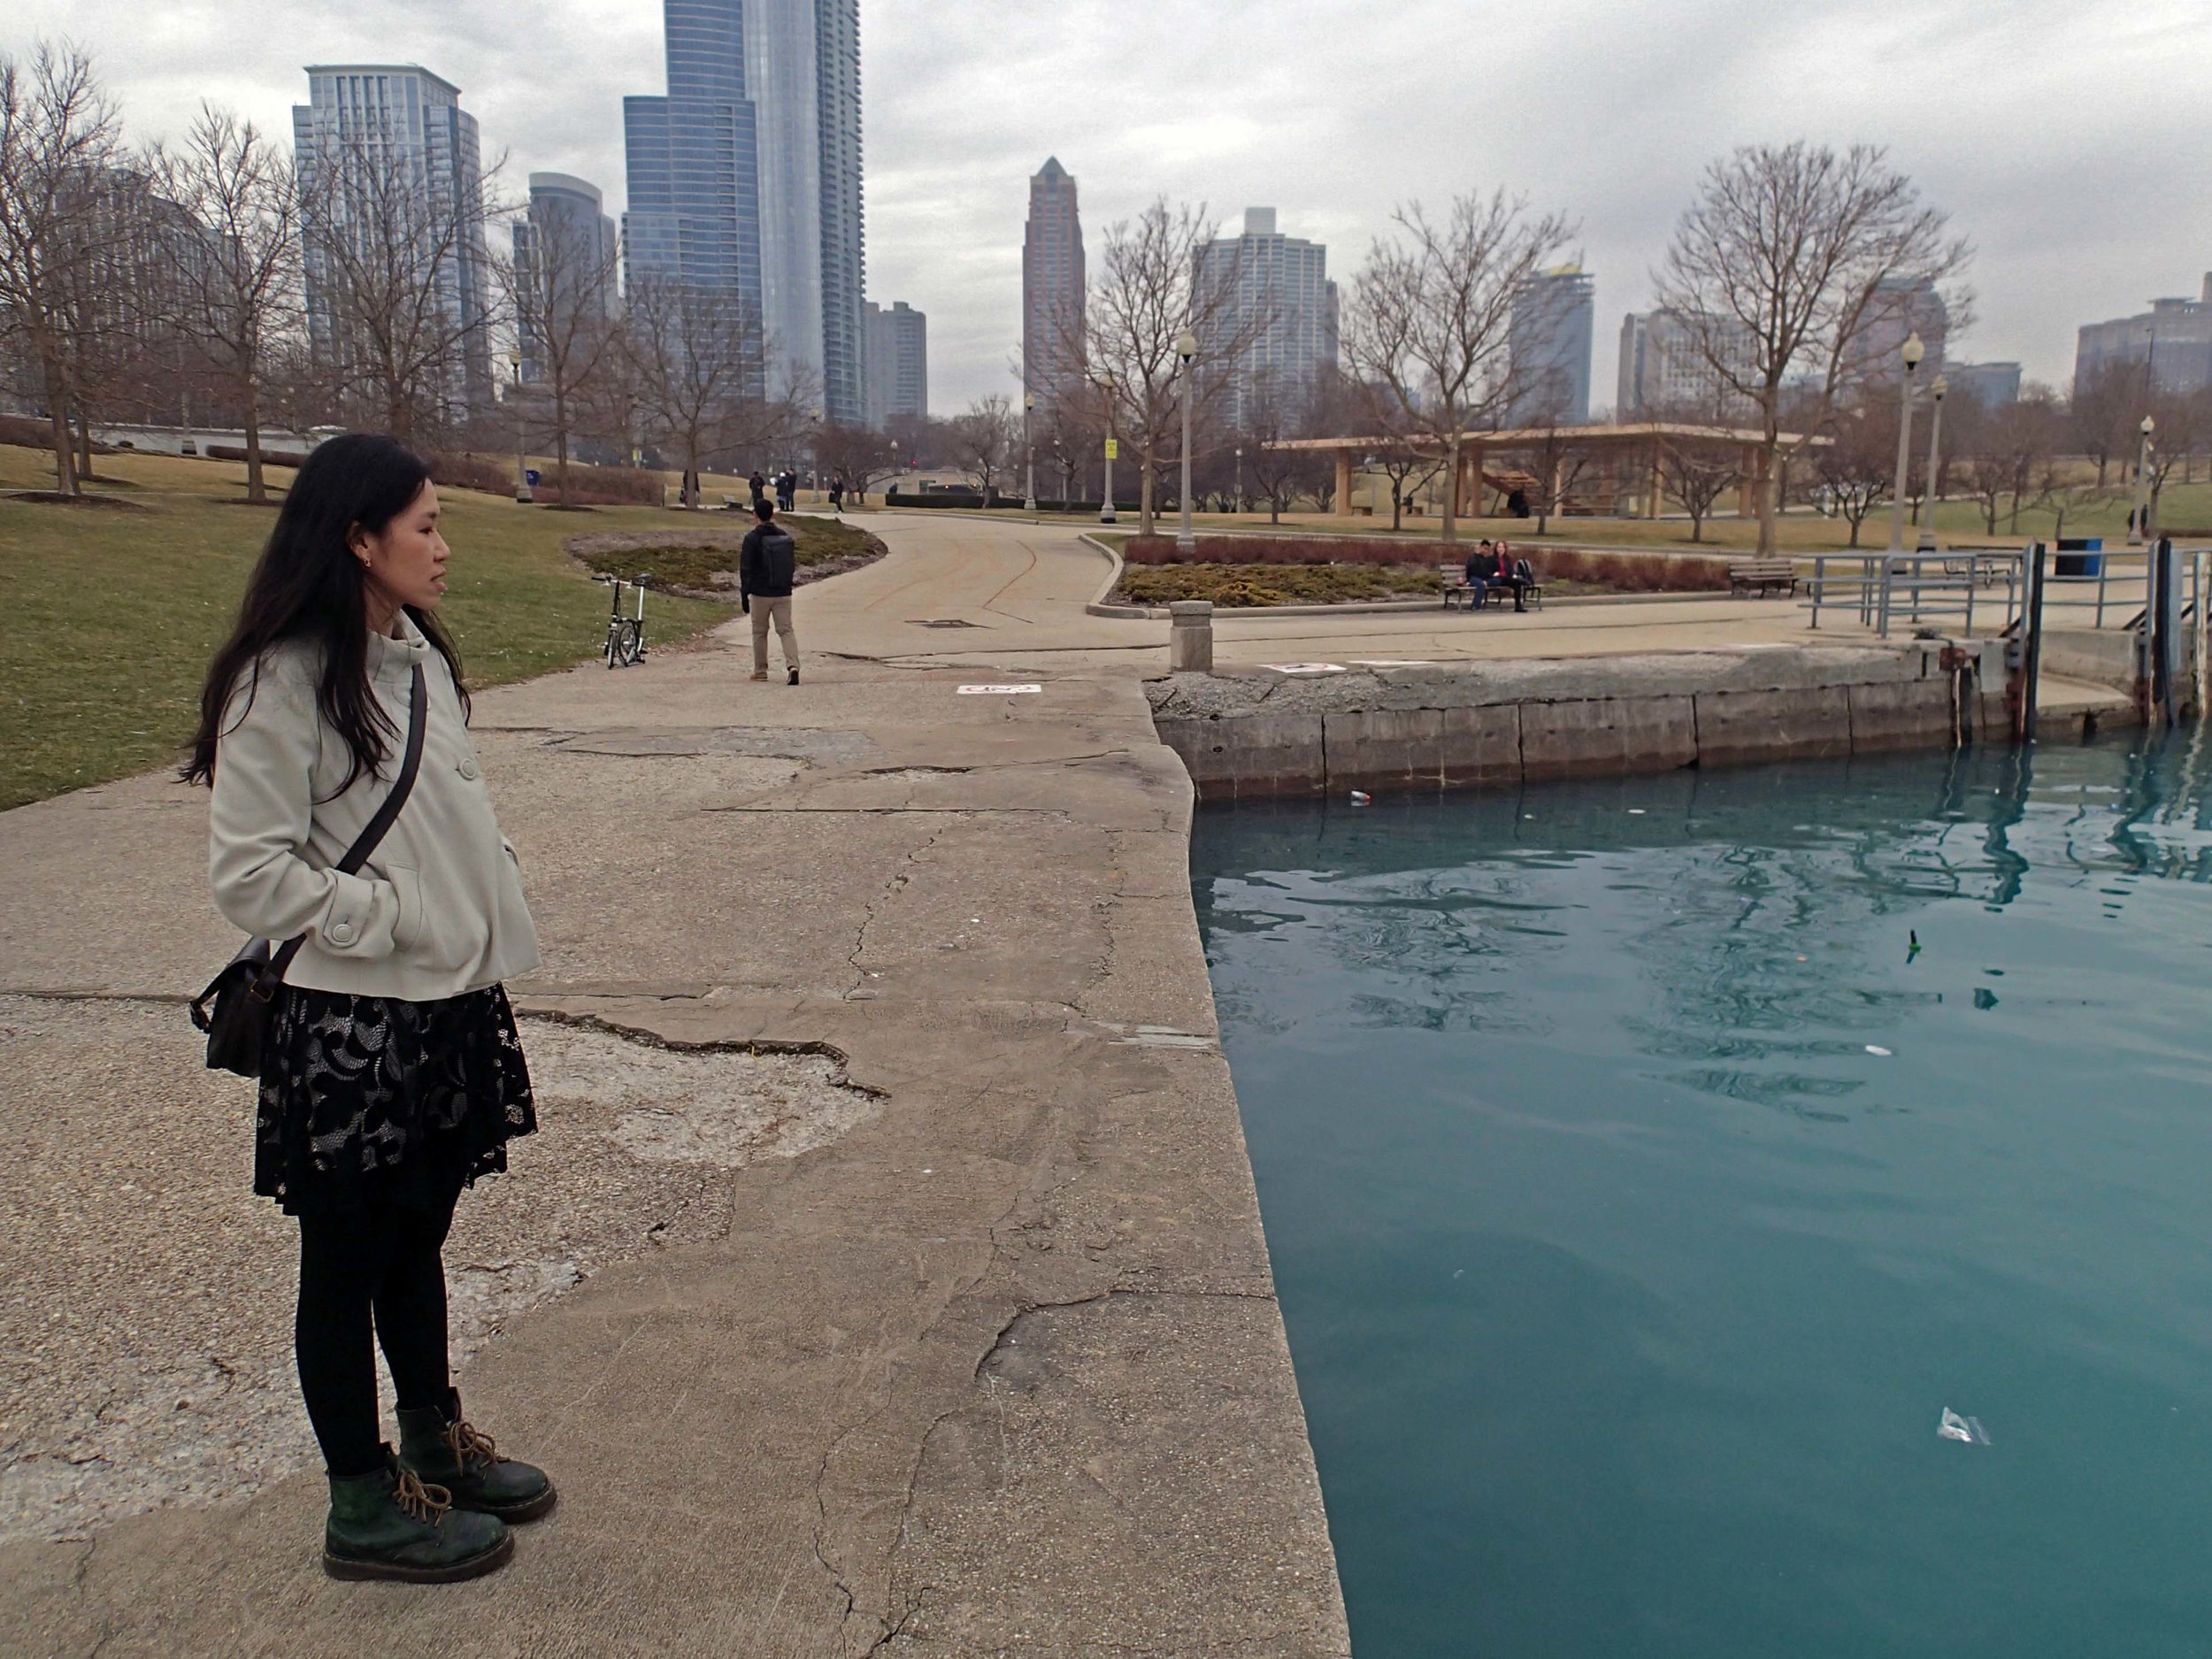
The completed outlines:
{"type": "Polygon", "coordinates": [[[498,984],[440,1002],[283,987],[261,1053],[254,1192],[285,1214],[451,1206],[538,1128],[498,984]]]}

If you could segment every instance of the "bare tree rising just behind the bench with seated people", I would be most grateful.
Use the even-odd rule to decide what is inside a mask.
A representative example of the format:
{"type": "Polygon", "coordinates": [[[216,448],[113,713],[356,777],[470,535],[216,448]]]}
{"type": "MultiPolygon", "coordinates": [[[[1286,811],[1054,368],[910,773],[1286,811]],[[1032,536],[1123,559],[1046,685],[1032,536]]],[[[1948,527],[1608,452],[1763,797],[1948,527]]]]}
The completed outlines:
{"type": "Polygon", "coordinates": [[[1498,425],[1526,385],[1511,352],[1513,305],[1573,226],[1531,215],[1504,190],[1453,197],[1442,223],[1416,201],[1398,237],[1376,239],[1352,281],[1343,347],[1374,389],[1376,416],[1400,442],[1422,442],[1444,467],[1444,542],[1458,540],[1464,436],[1498,425]]]}

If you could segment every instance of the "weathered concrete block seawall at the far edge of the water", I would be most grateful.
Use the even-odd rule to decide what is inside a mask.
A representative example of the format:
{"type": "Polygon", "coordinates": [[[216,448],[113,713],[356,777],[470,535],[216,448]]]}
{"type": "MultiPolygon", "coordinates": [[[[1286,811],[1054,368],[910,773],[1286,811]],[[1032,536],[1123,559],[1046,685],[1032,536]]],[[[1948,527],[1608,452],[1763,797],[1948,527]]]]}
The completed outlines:
{"type": "Polygon", "coordinates": [[[1997,641],[1263,668],[1146,690],[1201,801],[1668,772],[2006,732],[1997,641]]]}

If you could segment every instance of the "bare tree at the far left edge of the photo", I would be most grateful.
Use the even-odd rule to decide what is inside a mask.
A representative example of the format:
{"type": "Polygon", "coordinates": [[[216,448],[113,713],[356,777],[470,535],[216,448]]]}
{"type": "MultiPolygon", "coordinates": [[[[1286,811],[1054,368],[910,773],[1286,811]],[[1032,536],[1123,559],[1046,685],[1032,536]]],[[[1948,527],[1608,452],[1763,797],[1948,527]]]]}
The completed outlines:
{"type": "Polygon", "coordinates": [[[115,104],[82,49],[42,40],[29,64],[0,55],[0,327],[22,338],[38,367],[55,487],[69,495],[80,493],[69,434],[71,303],[97,252],[86,184],[117,150],[115,104]]]}

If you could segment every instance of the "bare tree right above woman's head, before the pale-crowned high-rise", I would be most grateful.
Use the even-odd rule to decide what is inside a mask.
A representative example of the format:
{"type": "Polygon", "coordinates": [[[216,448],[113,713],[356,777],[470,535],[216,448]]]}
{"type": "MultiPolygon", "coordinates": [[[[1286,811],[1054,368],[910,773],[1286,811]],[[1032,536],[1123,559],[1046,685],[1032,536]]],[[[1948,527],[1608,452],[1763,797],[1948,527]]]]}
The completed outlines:
{"type": "Polygon", "coordinates": [[[484,223],[498,166],[449,190],[385,133],[330,131],[303,170],[314,349],[334,389],[396,438],[489,396],[484,223]]]}

